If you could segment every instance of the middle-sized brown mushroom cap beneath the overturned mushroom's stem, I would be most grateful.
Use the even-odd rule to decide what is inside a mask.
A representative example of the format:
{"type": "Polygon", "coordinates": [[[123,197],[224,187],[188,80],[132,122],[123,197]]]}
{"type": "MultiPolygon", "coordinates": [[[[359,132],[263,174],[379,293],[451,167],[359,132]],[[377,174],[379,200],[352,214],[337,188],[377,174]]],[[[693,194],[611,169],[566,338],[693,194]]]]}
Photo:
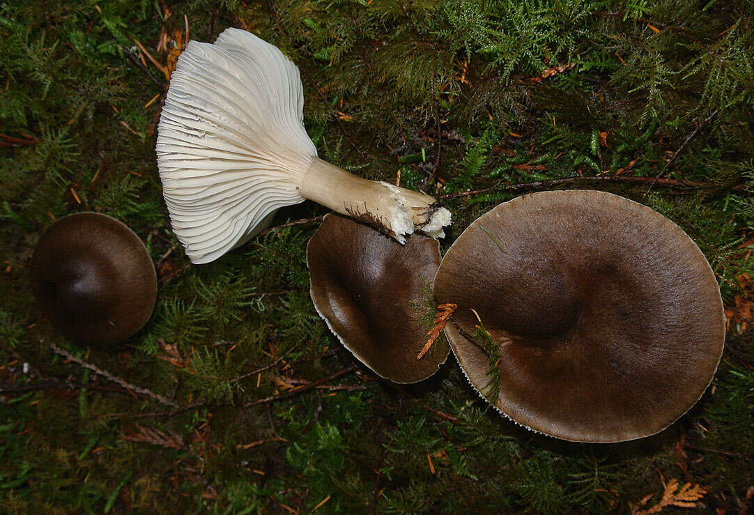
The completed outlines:
{"type": "Polygon", "coordinates": [[[311,300],[342,344],[397,383],[427,379],[450,349],[438,339],[425,357],[427,327],[417,306],[431,296],[440,246],[411,235],[401,245],[346,216],[329,213],[306,248],[311,300]]]}

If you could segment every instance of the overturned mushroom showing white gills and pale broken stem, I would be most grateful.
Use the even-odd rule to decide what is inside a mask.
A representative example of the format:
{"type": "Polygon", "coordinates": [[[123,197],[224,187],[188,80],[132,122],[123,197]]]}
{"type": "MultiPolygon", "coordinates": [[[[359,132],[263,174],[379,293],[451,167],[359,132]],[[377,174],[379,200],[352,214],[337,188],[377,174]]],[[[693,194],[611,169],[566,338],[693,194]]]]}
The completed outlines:
{"type": "Polygon", "coordinates": [[[241,29],[191,41],[170,78],[157,155],[170,219],[194,263],[219,258],[309,199],[403,243],[442,238],[450,213],[434,198],[352,175],[317,157],[303,126],[299,70],[241,29]]]}

